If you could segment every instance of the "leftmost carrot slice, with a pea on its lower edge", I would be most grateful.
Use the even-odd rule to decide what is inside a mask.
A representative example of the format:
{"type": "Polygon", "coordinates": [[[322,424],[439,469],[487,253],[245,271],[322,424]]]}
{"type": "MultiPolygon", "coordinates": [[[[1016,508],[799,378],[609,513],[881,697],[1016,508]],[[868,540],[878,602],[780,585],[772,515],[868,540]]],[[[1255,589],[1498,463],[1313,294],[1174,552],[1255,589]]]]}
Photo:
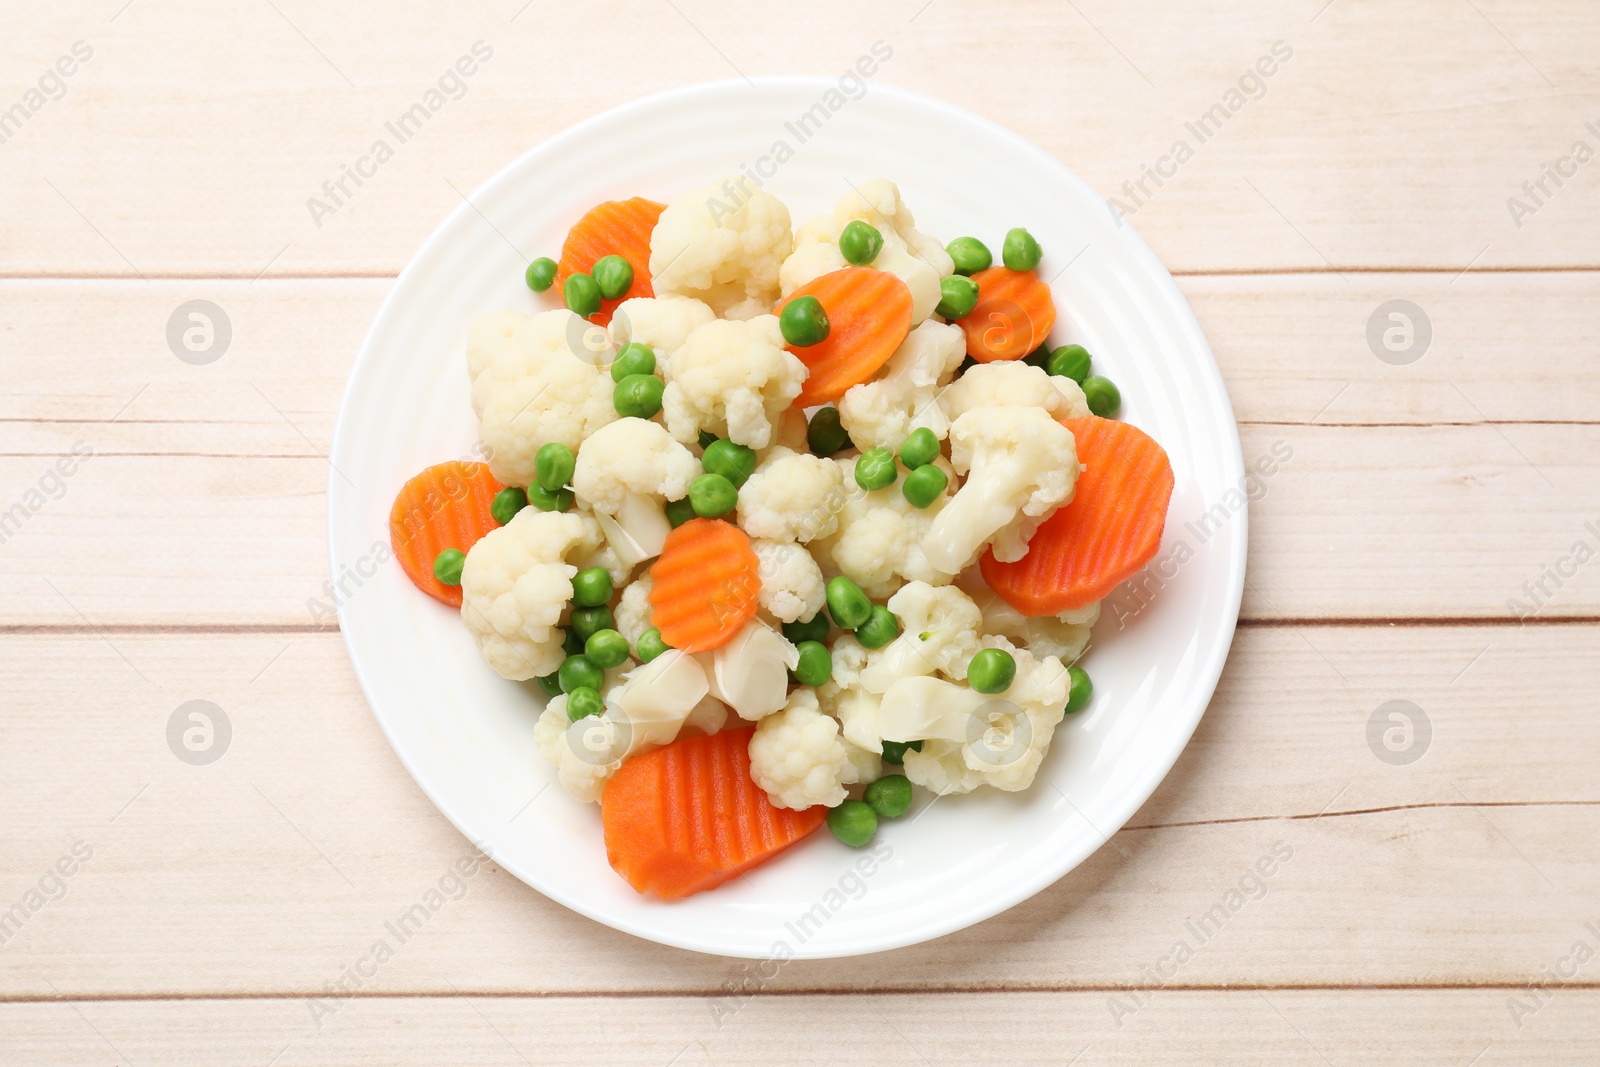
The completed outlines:
{"type": "Polygon", "coordinates": [[[442,462],[416,475],[389,509],[389,544],[406,577],[434,600],[461,606],[461,585],[434,577],[434,557],[445,549],[466,552],[499,526],[490,514],[504,490],[488,464],[442,462]]]}

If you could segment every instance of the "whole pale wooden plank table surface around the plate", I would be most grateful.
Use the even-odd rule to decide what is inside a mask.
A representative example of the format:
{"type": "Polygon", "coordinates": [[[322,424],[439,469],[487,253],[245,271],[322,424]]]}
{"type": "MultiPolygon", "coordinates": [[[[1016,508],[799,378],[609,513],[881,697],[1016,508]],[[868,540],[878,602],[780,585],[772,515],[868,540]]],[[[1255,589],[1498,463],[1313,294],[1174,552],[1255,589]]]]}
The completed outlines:
{"type": "Polygon", "coordinates": [[[1592,0],[438,6],[0,16],[0,1062],[1600,1061],[1600,163],[1570,157],[1600,149],[1592,0]],[[915,949],[755,979],[488,869],[363,963],[469,848],[307,605],[378,302],[526,146],[875,40],[880,82],[1134,208],[1246,459],[1291,453],[1250,506],[1205,721],[1094,857],[915,949]],[[464,94],[314,221],[474,42],[464,94]],[[194,299],[232,326],[208,365],[166,339],[194,299]],[[1386,314],[1400,350],[1370,344],[1389,301],[1426,349],[1386,314]],[[168,745],[195,699],[232,728],[210,765],[168,745]],[[1389,701],[1426,744],[1414,712],[1370,744],[1389,701]]]}

